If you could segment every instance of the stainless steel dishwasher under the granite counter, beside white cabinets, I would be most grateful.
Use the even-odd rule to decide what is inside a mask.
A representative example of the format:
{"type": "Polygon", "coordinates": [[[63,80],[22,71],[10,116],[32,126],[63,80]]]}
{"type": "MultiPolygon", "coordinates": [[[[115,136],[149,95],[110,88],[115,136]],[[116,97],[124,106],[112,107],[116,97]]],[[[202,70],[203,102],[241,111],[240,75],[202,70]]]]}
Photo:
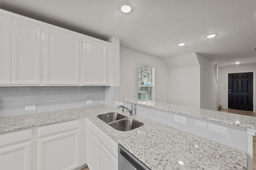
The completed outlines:
{"type": "Polygon", "coordinates": [[[118,170],[150,170],[130,152],[118,144],[118,170]]]}

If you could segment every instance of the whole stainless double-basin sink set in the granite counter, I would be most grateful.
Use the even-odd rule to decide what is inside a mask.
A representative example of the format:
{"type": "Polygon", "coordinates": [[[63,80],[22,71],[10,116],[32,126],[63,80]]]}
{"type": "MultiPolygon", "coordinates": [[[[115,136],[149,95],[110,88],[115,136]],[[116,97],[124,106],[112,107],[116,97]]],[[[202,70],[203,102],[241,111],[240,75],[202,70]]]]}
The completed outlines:
{"type": "Polygon", "coordinates": [[[98,115],[97,117],[112,128],[120,131],[133,130],[143,125],[143,123],[135,121],[134,119],[129,119],[128,117],[118,113],[107,113],[105,115],[98,115]]]}

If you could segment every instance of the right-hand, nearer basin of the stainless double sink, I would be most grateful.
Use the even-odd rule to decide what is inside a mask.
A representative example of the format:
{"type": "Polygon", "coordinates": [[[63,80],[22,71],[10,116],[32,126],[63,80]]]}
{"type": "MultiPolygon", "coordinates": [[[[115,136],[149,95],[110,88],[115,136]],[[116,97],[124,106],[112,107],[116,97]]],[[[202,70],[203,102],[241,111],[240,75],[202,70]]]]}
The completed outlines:
{"type": "Polygon", "coordinates": [[[129,131],[141,127],[143,123],[135,121],[134,119],[122,119],[109,124],[112,128],[120,131],[129,131]]]}

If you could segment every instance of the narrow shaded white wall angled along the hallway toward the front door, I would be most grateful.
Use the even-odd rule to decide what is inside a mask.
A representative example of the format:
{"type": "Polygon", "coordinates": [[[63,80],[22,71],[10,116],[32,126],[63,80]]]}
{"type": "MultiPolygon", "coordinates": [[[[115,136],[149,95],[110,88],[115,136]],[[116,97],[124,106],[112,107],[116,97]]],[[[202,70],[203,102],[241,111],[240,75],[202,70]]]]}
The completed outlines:
{"type": "Polygon", "coordinates": [[[214,77],[212,61],[196,53],[200,64],[200,108],[217,110],[218,83],[214,77]]]}

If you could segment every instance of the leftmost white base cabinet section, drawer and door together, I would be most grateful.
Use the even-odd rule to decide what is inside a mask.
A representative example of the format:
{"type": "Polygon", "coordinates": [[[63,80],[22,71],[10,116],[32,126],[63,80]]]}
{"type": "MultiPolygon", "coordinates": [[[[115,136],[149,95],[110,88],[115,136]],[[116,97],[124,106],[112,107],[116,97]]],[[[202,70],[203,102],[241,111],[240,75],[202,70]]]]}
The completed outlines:
{"type": "Polygon", "coordinates": [[[0,135],[0,169],[32,169],[32,130],[0,135]]]}

